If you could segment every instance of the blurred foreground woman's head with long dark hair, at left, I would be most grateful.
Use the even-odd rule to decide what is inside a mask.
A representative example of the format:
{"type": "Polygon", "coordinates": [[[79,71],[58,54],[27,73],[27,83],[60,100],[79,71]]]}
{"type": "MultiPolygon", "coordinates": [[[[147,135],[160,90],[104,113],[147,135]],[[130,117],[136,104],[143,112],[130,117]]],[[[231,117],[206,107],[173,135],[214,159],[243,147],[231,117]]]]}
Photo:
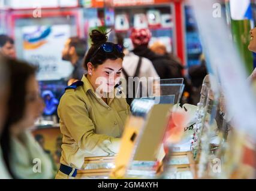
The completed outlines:
{"type": "Polygon", "coordinates": [[[7,98],[7,116],[1,135],[1,147],[5,164],[10,171],[10,137],[19,137],[26,128],[32,127],[43,112],[35,67],[13,59],[8,59],[6,67],[10,73],[10,95],[7,98]]]}

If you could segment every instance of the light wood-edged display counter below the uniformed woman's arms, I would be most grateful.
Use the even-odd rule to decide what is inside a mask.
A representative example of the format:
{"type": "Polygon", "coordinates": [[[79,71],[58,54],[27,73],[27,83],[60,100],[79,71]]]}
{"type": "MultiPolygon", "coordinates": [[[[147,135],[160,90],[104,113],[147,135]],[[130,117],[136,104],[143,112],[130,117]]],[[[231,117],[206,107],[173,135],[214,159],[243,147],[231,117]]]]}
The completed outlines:
{"type": "MultiPolygon", "coordinates": [[[[110,178],[115,168],[115,156],[85,158],[83,170],[76,178],[110,178]]],[[[197,178],[197,164],[191,152],[173,152],[166,172],[158,172],[156,161],[132,161],[124,178],[197,178]],[[162,177],[164,175],[164,177],[162,177]]]]}

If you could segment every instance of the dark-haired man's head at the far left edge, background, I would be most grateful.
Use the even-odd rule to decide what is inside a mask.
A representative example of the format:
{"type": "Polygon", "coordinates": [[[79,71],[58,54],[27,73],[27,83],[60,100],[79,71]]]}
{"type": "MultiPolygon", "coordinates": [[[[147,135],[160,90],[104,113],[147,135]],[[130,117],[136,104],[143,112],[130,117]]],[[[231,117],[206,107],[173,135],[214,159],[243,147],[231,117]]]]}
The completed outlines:
{"type": "Polygon", "coordinates": [[[0,53],[7,57],[16,57],[14,40],[10,36],[0,35],[0,53]]]}

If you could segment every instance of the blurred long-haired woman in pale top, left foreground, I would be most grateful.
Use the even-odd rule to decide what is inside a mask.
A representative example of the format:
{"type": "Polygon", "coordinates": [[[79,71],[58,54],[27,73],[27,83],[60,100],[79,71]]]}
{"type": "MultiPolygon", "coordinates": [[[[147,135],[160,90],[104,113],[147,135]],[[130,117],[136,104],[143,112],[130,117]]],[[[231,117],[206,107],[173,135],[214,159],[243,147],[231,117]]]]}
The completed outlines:
{"type": "Polygon", "coordinates": [[[35,68],[13,59],[6,66],[10,96],[0,138],[4,164],[13,178],[52,178],[52,163],[28,130],[44,109],[35,68]]]}

